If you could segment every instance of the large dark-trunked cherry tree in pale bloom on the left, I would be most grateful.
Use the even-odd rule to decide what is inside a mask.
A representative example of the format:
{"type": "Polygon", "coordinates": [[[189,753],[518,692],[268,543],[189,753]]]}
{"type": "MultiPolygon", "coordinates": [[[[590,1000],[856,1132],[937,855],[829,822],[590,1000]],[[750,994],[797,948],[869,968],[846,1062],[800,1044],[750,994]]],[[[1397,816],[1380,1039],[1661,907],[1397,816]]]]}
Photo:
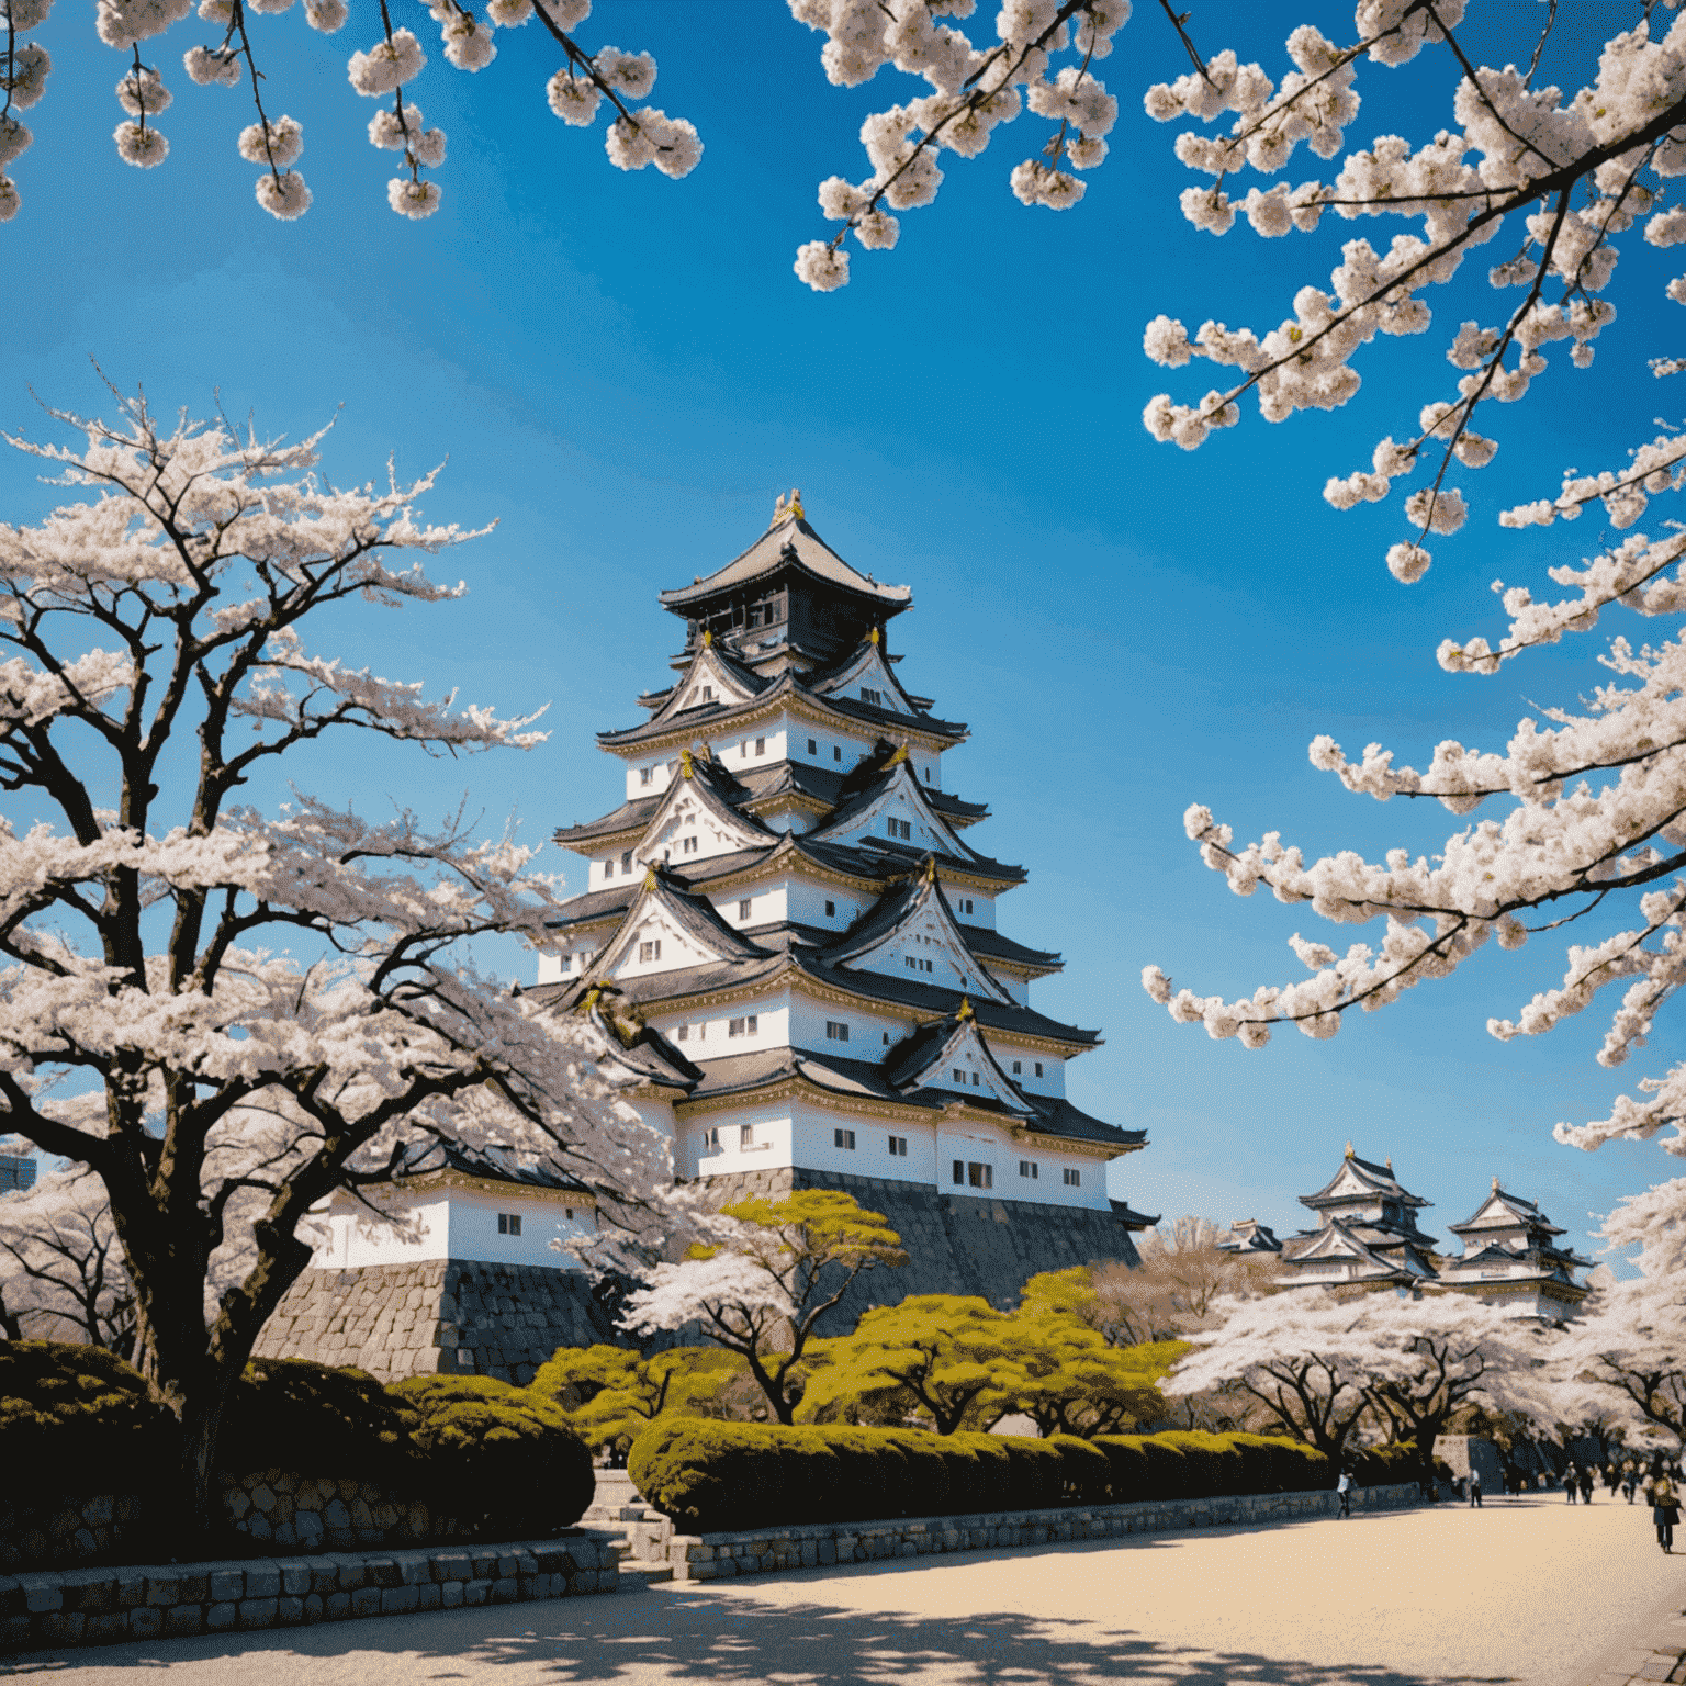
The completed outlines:
{"type": "Polygon", "coordinates": [[[671,1172],[590,1034],[464,953],[546,941],[553,885],[514,836],[241,801],[346,732],[541,740],[307,642],[342,604],[460,595],[425,568],[472,536],[420,519],[433,475],[339,491],[320,433],[54,415],[84,442],[10,443],[84,497],[0,524],[0,1128],[98,1179],[204,1526],[228,1389],[334,1189],[427,1136],[543,1155],[610,1216],[671,1172]]]}

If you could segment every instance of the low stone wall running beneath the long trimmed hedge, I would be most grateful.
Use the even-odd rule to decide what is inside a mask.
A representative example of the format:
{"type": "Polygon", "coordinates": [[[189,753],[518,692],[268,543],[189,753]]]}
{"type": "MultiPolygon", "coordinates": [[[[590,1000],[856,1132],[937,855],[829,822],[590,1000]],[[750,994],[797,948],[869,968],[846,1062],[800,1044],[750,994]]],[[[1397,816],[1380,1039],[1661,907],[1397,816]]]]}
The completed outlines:
{"type": "MultiPolygon", "coordinates": [[[[1354,1511],[1398,1511],[1418,1504],[1415,1482],[1399,1487],[1359,1487],[1354,1511]]],[[[883,1558],[939,1556],[986,1551],[991,1546],[1047,1546],[1077,1539],[1116,1539],[1177,1528],[1221,1528],[1248,1522],[1286,1522],[1335,1516],[1332,1492],[1259,1492],[1224,1499],[1170,1499],[1104,1504],[1059,1511],[993,1511],[978,1516],[921,1516],[885,1522],[824,1522],[809,1528],[760,1528],[738,1534],[632,1536],[634,1553],[658,1551],[674,1580],[723,1580],[769,1575],[821,1565],[872,1563],[883,1558]]]]}

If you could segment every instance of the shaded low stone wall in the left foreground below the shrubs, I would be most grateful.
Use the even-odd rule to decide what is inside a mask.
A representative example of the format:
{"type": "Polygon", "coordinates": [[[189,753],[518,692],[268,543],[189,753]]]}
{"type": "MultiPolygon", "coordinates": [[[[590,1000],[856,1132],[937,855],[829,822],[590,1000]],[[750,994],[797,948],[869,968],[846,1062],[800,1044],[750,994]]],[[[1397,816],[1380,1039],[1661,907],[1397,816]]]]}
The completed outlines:
{"type": "Polygon", "coordinates": [[[615,1536],[433,1551],[334,1553],[246,1563],[169,1563],[0,1576],[0,1649],[302,1627],[359,1615],[615,1592],[615,1536]]]}

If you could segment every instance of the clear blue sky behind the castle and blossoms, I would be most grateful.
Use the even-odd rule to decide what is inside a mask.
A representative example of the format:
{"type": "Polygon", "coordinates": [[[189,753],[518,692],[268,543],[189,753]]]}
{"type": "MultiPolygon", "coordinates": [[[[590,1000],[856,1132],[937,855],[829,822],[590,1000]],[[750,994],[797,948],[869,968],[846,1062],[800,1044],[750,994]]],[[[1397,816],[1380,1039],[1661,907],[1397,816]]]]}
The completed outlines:
{"type": "MultiPolygon", "coordinates": [[[[1286,1032],[1258,1054],[1175,1027],[1138,985],[1155,961],[1179,985],[1251,991],[1298,975],[1290,932],[1337,944],[1364,934],[1325,932],[1266,897],[1234,900],[1184,840],[1190,801],[1243,836],[1281,830],[1308,855],[1433,850],[1452,816],[1345,796],[1307,764],[1310,738],[1330,732],[1350,754],[1381,738],[1421,765],[1440,738],[1494,745],[1531,701],[1593,683],[1587,639],[1497,679],[1443,674],[1433,647],[1495,632],[1492,578],[1538,587],[1546,565],[1597,545],[1592,518],[1544,534],[1494,518],[1553,494],[1565,465],[1619,465],[1649,437],[1671,395],[1644,359],[1681,339],[1678,307],[1661,297],[1666,255],[1629,246],[1622,317],[1593,369],[1575,373],[1558,352],[1536,398],[1487,428],[1502,448],[1465,477],[1469,529],[1442,540],[1428,577],[1404,588],[1381,561],[1403,536],[1391,506],[1337,514],[1318,494],[1450,388],[1445,341],[1502,303],[1480,278],[1497,243],[1431,298],[1426,337],[1361,359],[1366,384],[1347,408],[1266,427],[1248,406],[1200,452],[1155,445],[1143,403],[1167,384],[1189,401],[1214,383],[1146,362],[1150,317],[1264,329],[1298,287],[1325,283],[1340,241],[1379,244],[1401,224],[1329,221],[1275,243],[1243,226],[1219,243],[1184,223],[1175,196],[1192,179],[1172,158],[1175,130],[1140,110],[1150,81],[1182,69],[1150,8],[1103,67],[1123,115],[1082,206],[1054,214],[1012,199],[1007,172],[1047,126],[1020,121],[983,158],[954,160],[936,206],[904,216],[899,250],[858,251],[853,285],[830,297],[791,273],[796,246],[828,233],[814,187],[865,174],[860,120],[914,93],[910,81],[883,72],[833,89],[821,37],[777,0],[602,0],[583,39],[651,49],[652,103],[701,130],[700,169],[669,182],[610,169],[600,126],[582,133],[550,115],[555,57],[536,25],[499,34],[497,62],[467,78],[410,10],[420,22],[403,0],[400,20],[430,54],[411,93],[450,137],[432,221],[386,209],[391,153],[364,140],[373,103],[346,83],[346,56],[374,39],[368,7],[330,40],[297,8],[255,19],[270,110],[303,123],[300,169],[315,192],[309,216],[280,224],[256,209],[255,170],[234,152],[248,101],[180,71],[201,25],[150,44],[177,101],[160,121],[172,155],[142,174],[110,140],[121,59],[62,0],[40,32],[56,67],[29,113],[35,147],[13,167],[24,212],[0,231],[13,302],[0,425],[51,432],[30,389],[71,408],[108,403],[93,357],[118,386],[143,381],[162,408],[204,413],[219,389],[231,415],[253,410],[268,432],[297,435],[337,410],[332,477],[378,475],[389,452],[401,474],[448,457],[427,513],[497,518],[440,565],[469,582],[465,602],[352,612],[342,649],[504,711],[550,703],[550,742],[469,764],[351,744],[297,779],[366,808],[442,811],[467,789],[489,824],[518,813],[533,838],[605,811],[619,764],[592,733],[641,717],[632,698],[664,678],[678,644],[656,592],[735,555],[774,496],[801,486],[836,550],[914,587],[917,609],[892,632],[902,674],[973,727],[948,762],[951,787],[995,811],[973,841],[1032,873],[1001,926],[1064,951],[1066,973],[1037,986],[1045,1012],[1104,1027],[1072,1096],[1152,1136],[1114,1167],[1114,1194],[1150,1212],[1291,1229],[1308,1221],[1295,1197],[1332,1175],[1350,1138],[1367,1157],[1393,1155],[1435,1202],[1431,1232],[1467,1217],[1499,1175],[1585,1249],[1590,1212],[1678,1168],[1656,1146],[1581,1155],[1551,1141],[1558,1120],[1602,1116],[1620,1079],[1664,1069],[1667,1037],[1612,1074],[1592,1062],[1597,1013],[1536,1042],[1485,1034],[1489,1015],[1558,981],[1561,948],[1548,939],[1517,956],[1494,949],[1332,1042],[1286,1032]]],[[[1285,24],[1261,32],[1261,10],[1212,5],[1199,37],[1280,76],[1285,24]]],[[[1538,10],[1492,8],[1485,34],[1472,25],[1472,51],[1487,62],[1526,54],[1501,30],[1533,27],[1538,10]]],[[[1590,29],[1607,10],[1576,15],[1590,29]]],[[[1329,12],[1325,27],[1344,37],[1350,12],[1329,12]]],[[[1565,78],[1588,49],[1590,35],[1565,40],[1565,78]]],[[[1421,140],[1450,121],[1438,69],[1361,88],[1352,143],[1389,130],[1421,140]]],[[[34,474],[0,460],[7,519],[56,501],[34,474]]],[[[573,856],[545,858],[583,885],[573,856]]],[[[518,953],[492,959],[531,976],[518,953]]]]}

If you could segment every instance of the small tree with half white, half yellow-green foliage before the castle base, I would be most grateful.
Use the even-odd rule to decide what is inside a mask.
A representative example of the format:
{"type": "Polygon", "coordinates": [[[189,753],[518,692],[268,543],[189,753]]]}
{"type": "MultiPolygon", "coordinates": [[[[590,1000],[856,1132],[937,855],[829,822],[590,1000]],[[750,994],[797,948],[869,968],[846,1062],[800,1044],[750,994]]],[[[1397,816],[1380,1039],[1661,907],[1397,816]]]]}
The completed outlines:
{"type": "Polygon", "coordinates": [[[711,1241],[695,1243],[676,1264],[654,1266],[649,1285],[627,1295],[622,1327],[700,1327],[744,1359],[774,1416],[792,1423],[819,1320],[862,1271],[905,1264],[902,1238],[882,1212],[824,1189],[733,1200],[711,1227],[711,1241]]]}

